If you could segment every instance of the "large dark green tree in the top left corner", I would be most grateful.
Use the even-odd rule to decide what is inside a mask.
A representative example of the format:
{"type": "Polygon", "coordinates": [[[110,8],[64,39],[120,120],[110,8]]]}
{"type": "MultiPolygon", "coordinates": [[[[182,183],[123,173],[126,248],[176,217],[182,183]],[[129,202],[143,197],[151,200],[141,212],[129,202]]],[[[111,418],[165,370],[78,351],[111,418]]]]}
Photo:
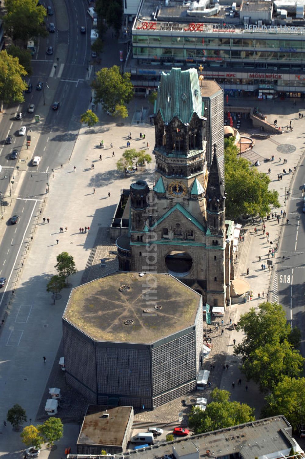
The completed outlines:
{"type": "Polygon", "coordinates": [[[6,0],[4,24],[14,43],[21,40],[24,45],[33,37],[47,37],[44,18],[47,11],[37,6],[37,0],[6,0]]]}

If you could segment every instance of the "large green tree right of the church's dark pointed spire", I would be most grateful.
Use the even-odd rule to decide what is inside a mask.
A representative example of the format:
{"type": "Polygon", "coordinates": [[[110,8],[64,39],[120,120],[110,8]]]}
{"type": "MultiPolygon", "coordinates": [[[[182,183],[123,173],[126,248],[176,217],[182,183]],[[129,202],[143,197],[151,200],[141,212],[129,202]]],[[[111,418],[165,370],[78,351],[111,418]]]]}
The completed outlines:
{"type": "Polygon", "coordinates": [[[270,178],[251,167],[250,162],[238,157],[234,137],[225,139],[226,213],[229,218],[244,214],[264,217],[270,206],[279,207],[278,193],[268,190],[270,178]]]}

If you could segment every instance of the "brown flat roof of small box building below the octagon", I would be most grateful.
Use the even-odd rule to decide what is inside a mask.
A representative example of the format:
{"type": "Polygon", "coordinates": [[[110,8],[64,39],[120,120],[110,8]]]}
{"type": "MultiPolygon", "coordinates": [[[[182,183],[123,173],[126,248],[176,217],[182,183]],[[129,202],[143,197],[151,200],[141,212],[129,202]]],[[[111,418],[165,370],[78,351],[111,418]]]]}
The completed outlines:
{"type": "Polygon", "coordinates": [[[78,437],[78,444],[122,446],[131,406],[89,405],[78,437]],[[108,413],[109,418],[103,418],[108,413]]]}

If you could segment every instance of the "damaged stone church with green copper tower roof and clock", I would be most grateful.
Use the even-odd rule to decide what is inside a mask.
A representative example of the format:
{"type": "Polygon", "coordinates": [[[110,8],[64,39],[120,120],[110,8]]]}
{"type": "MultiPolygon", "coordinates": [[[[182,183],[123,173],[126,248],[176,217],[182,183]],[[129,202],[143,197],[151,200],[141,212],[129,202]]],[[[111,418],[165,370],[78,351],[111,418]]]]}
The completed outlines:
{"type": "Polygon", "coordinates": [[[205,157],[204,103],[195,69],[161,75],[155,116],[155,185],[130,186],[129,231],[120,236],[119,268],[170,273],[211,306],[230,302],[234,224],[214,154],[205,157]]]}

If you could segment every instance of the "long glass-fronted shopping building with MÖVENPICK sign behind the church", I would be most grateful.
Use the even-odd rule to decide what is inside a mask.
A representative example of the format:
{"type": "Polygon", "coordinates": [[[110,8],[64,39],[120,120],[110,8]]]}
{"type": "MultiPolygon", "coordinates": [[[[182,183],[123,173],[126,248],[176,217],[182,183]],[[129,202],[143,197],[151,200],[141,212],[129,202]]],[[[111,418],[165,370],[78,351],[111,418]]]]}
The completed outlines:
{"type": "MultiPolygon", "coordinates": [[[[141,0],[125,71],[136,92],[201,64],[225,94],[305,95],[305,0],[141,0]]],[[[198,70],[200,73],[200,70],[198,70]]]]}

